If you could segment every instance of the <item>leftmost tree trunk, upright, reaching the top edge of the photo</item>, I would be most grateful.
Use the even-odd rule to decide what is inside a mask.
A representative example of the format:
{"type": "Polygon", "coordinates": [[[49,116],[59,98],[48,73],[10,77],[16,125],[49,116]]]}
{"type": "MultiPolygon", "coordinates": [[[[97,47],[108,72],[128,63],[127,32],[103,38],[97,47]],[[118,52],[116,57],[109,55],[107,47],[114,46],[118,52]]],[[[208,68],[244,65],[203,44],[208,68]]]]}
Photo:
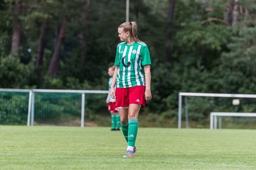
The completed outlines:
{"type": "Polygon", "coordinates": [[[13,24],[13,36],[11,39],[11,53],[18,52],[18,48],[21,40],[21,20],[19,16],[21,15],[22,8],[22,0],[15,1],[15,16],[14,16],[14,24],[13,24]]]}

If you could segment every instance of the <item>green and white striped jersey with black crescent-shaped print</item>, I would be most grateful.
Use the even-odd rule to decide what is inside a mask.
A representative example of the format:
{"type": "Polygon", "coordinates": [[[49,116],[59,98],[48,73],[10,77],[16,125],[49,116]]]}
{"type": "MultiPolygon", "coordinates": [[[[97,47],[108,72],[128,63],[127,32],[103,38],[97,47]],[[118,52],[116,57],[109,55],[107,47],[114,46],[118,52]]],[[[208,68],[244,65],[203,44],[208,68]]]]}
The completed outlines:
{"type": "Polygon", "coordinates": [[[117,87],[145,86],[143,66],[150,64],[149,48],[144,42],[134,42],[132,45],[119,43],[114,60],[114,65],[119,66],[117,87]]]}

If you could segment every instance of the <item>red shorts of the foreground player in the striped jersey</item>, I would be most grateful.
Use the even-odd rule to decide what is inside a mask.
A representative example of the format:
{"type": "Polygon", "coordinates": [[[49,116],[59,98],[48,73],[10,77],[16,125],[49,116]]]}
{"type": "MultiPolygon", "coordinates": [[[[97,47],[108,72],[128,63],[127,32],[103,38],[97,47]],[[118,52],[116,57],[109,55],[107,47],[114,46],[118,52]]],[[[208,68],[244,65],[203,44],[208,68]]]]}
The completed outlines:
{"type": "Polygon", "coordinates": [[[129,88],[116,89],[116,106],[129,107],[129,104],[139,104],[144,108],[145,105],[145,86],[132,86],[129,88]]]}

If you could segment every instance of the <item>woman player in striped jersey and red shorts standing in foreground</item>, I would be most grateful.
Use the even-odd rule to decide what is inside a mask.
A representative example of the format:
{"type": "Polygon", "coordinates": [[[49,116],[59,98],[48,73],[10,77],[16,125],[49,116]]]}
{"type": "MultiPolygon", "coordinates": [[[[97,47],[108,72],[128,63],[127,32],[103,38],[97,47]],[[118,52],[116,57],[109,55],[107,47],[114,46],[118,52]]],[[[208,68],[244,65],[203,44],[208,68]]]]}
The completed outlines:
{"type": "Polygon", "coordinates": [[[117,99],[122,132],[127,140],[124,157],[134,157],[139,110],[145,107],[145,100],[151,100],[151,59],[147,45],[137,36],[135,22],[122,23],[118,36],[122,42],[117,45],[110,93],[117,99]]]}

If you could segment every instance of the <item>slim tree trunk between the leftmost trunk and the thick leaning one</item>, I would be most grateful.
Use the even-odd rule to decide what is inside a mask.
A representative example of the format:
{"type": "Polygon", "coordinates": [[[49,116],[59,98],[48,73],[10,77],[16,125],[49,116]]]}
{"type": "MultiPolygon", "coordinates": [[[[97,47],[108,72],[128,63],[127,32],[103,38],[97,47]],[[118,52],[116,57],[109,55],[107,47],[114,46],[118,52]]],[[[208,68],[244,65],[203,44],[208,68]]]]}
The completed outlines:
{"type": "Polygon", "coordinates": [[[38,54],[36,57],[36,69],[39,69],[43,64],[43,53],[46,45],[46,28],[47,28],[47,23],[46,21],[43,21],[43,24],[41,26],[39,44],[38,44],[38,54]]]}

